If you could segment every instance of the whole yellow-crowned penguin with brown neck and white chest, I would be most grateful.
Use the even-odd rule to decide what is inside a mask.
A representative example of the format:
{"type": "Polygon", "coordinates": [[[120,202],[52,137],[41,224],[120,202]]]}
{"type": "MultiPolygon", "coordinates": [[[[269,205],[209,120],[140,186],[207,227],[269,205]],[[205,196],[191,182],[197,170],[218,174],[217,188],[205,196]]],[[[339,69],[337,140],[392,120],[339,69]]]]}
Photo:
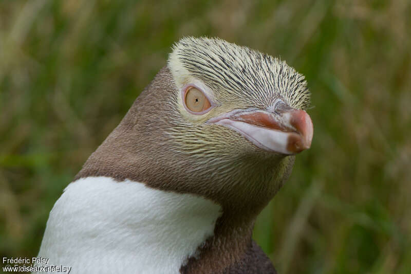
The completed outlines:
{"type": "Polygon", "coordinates": [[[185,37],[50,211],[70,273],[276,273],[255,219],[310,148],[310,92],[277,58],[185,37]]]}

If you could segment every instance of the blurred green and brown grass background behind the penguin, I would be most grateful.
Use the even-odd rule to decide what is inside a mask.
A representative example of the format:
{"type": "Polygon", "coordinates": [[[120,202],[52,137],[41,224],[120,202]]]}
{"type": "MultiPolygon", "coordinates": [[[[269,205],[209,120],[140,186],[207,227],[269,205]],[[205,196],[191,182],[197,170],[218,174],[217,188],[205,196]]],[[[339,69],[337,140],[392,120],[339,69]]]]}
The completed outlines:
{"type": "Polygon", "coordinates": [[[184,35],[306,75],[314,139],[257,220],[280,273],[411,273],[409,1],[0,2],[0,255],[48,212],[184,35]]]}

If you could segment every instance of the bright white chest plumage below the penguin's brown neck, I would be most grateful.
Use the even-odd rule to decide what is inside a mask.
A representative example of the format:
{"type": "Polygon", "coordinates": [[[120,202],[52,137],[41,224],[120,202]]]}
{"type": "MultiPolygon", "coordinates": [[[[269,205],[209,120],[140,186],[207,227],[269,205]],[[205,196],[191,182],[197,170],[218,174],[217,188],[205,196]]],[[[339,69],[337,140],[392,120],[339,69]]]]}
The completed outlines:
{"type": "Polygon", "coordinates": [[[38,257],[70,273],[178,273],[209,236],[219,205],[140,182],[72,182],[50,212],[38,257]]]}

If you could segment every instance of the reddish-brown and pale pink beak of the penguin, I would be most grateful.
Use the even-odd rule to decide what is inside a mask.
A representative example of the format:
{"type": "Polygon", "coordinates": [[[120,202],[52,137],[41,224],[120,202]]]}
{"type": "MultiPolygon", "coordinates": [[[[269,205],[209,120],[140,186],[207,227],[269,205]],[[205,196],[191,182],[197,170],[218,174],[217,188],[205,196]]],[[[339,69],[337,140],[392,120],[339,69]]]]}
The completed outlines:
{"type": "Polygon", "coordinates": [[[208,123],[228,127],[260,149],[293,155],[309,149],[313,135],[310,116],[301,109],[282,107],[275,112],[235,110],[208,123]]]}

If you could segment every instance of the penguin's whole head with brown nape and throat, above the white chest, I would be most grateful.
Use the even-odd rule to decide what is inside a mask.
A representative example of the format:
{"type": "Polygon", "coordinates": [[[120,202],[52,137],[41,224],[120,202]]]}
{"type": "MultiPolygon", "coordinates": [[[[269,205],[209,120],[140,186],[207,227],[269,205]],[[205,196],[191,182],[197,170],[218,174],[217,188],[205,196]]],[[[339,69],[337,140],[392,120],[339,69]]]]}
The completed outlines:
{"type": "Polygon", "coordinates": [[[284,61],[183,38],[78,177],[134,179],[256,215],[310,147],[309,104],[304,76],[284,61]]]}

